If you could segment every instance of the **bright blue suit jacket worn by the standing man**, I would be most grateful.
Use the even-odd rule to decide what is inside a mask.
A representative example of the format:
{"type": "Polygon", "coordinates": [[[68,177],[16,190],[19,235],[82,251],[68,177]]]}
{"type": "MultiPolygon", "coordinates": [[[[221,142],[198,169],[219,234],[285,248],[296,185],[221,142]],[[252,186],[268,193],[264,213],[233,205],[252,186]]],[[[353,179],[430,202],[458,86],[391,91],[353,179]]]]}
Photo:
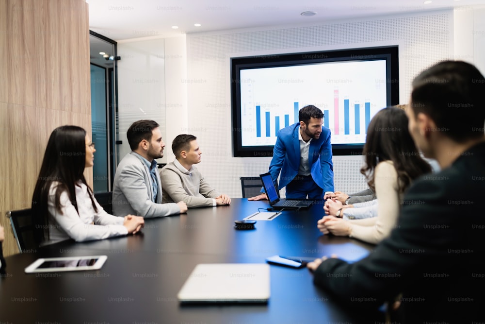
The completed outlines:
{"type": "MultiPolygon", "coordinates": [[[[286,187],[298,174],[300,168],[300,141],[298,139],[300,123],[281,129],[273,149],[270,173],[273,180],[279,178],[279,189],[286,187]]],[[[323,192],[334,191],[332,145],[330,130],[322,126],[319,139],[312,139],[308,150],[308,162],[311,165],[311,176],[323,192]]]]}

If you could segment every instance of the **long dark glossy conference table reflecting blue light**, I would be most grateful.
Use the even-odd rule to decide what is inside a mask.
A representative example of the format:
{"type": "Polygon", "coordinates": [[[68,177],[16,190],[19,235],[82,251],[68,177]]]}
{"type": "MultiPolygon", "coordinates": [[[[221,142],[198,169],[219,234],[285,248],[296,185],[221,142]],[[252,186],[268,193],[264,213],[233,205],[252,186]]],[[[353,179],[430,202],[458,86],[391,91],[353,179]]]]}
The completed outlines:
{"type": "Polygon", "coordinates": [[[349,309],[313,285],[307,269],[271,266],[268,304],[180,305],[178,290],[198,263],[264,263],[273,255],[357,260],[372,245],[323,236],[316,222],[322,205],[283,211],[255,230],[234,221],[267,208],[267,202],[233,199],[230,206],[189,209],[187,214],[146,219],[128,237],[64,241],[9,256],[0,278],[0,323],[378,323],[382,312],[349,309]],[[38,257],[107,255],[97,271],[24,273],[38,257]]]}

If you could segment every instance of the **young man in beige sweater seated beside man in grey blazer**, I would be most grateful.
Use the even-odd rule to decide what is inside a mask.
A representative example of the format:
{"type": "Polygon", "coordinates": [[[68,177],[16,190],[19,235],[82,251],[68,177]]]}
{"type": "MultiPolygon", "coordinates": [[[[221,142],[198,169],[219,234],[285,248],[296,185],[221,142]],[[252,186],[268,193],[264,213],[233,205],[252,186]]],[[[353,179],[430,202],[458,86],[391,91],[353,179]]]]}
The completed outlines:
{"type": "Polygon", "coordinates": [[[231,199],[219,194],[205,181],[194,164],[200,163],[202,151],[194,135],[182,134],[172,142],[175,160],[160,171],[162,203],[183,201],[187,207],[229,205],[231,199]]]}

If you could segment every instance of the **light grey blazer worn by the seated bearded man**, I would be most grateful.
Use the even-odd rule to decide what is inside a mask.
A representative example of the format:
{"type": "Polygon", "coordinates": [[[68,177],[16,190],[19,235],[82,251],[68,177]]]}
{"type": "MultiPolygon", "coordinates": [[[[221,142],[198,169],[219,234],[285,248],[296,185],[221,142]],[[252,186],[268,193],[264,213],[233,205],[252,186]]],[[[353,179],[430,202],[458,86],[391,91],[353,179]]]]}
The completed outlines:
{"type": "Polygon", "coordinates": [[[158,193],[152,202],[150,171],[140,157],[130,152],[121,160],[113,184],[113,215],[137,215],[146,218],[180,213],[177,204],[162,204],[162,183],[157,174],[158,193]]]}

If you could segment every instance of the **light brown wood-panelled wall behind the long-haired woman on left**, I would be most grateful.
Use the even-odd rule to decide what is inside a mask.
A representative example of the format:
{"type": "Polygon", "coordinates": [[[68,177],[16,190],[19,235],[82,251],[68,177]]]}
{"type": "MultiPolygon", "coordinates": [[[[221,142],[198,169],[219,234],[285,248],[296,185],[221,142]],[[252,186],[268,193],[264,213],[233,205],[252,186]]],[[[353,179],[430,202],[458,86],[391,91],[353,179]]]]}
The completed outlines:
{"type": "MultiPolygon", "coordinates": [[[[91,135],[88,7],[84,0],[0,1],[0,224],[17,253],[7,210],[29,208],[52,130],[91,135]]],[[[86,171],[92,185],[92,170],[86,171]]]]}

